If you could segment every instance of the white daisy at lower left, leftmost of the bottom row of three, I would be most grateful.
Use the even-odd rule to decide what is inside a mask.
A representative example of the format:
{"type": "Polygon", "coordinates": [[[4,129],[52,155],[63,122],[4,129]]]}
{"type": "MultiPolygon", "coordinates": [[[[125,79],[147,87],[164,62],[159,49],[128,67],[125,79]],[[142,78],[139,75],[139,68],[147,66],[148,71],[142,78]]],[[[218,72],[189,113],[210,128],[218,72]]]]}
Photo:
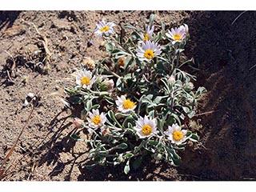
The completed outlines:
{"type": "Polygon", "coordinates": [[[86,119],[90,127],[98,128],[102,127],[106,122],[106,115],[103,113],[99,114],[98,110],[92,110],[92,113],[89,112],[89,118],[86,119]]]}

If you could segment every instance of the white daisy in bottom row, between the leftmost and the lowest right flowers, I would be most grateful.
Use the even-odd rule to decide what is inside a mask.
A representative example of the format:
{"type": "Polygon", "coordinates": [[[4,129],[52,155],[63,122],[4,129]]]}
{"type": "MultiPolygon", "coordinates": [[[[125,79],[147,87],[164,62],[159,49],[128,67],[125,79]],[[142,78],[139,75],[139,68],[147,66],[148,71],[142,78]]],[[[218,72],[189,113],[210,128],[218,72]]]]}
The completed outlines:
{"type": "Polygon", "coordinates": [[[158,134],[159,132],[157,130],[155,119],[148,118],[146,115],[144,116],[144,118],[138,118],[136,126],[134,126],[134,130],[137,131],[139,138],[150,137],[153,136],[154,134],[158,134]]]}

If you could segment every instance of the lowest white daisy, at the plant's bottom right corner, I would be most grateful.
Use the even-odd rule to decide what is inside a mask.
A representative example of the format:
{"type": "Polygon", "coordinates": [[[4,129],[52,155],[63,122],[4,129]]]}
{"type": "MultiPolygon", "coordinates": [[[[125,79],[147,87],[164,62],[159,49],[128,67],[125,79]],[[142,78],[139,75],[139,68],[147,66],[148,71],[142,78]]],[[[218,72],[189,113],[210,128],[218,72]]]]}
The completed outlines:
{"type": "Polygon", "coordinates": [[[168,126],[168,130],[166,130],[164,133],[168,136],[168,139],[171,142],[180,145],[182,142],[186,141],[186,132],[187,130],[182,130],[182,127],[178,126],[176,123],[172,126],[168,126]]]}

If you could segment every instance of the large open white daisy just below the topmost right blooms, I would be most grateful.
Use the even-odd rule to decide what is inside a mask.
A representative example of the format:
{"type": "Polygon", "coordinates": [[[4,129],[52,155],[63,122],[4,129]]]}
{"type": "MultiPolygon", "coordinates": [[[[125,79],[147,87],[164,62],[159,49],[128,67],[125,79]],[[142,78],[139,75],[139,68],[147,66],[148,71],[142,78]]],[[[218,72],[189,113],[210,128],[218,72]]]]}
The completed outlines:
{"type": "Polygon", "coordinates": [[[158,43],[146,41],[142,42],[142,46],[138,46],[137,56],[140,60],[150,62],[156,55],[161,54],[161,48],[158,43]]]}

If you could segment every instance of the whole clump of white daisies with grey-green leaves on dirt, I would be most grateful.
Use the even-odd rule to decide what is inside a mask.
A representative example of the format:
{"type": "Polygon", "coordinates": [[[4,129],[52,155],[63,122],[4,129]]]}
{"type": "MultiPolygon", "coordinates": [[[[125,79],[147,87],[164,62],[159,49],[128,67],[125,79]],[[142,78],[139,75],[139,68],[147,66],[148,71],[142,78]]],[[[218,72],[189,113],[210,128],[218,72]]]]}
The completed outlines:
{"type": "Polygon", "coordinates": [[[195,77],[181,69],[191,62],[183,54],[188,26],[168,30],[153,22],[151,15],[145,29],[123,25],[120,34],[113,22],[98,22],[94,34],[106,58],[87,59],[75,74],[76,86],[66,89],[70,104],[83,107],[74,125],[89,135],[83,141],[90,143],[90,166],[124,163],[127,174],[130,162],[138,167],[148,154],[177,166],[178,151],[199,140],[186,119],[194,117],[206,90],[194,90],[195,77]]]}

